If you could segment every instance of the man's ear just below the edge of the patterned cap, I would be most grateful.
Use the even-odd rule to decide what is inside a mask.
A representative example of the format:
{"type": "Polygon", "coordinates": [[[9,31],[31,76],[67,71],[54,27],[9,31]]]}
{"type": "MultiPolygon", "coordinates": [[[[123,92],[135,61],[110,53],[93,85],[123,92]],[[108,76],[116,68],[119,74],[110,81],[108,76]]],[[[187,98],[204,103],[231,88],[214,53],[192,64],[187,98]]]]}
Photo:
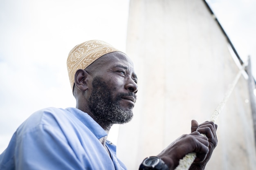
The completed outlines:
{"type": "Polygon", "coordinates": [[[75,74],[75,86],[81,91],[86,91],[88,89],[88,78],[90,75],[87,71],[79,69],[75,74]]]}

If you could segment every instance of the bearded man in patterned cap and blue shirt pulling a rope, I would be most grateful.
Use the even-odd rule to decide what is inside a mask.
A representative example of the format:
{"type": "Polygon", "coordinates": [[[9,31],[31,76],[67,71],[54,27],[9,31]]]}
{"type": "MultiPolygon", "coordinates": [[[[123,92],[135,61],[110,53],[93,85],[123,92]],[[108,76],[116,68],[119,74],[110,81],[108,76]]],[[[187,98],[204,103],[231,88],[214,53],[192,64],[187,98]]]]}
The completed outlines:
{"type": "MultiPolygon", "coordinates": [[[[132,61],[110,44],[92,40],[72,49],[67,59],[76,108],[46,108],[32,114],[0,155],[0,170],[125,170],[107,140],[113,124],[132,119],[138,91],[132,61]]],[[[191,122],[182,135],[139,169],[173,170],[187,153],[190,169],[202,170],[217,145],[213,122],[191,122]],[[207,137],[200,135],[206,134],[207,137]]],[[[141,160],[142,161],[142,160],[141,160]]]]}

